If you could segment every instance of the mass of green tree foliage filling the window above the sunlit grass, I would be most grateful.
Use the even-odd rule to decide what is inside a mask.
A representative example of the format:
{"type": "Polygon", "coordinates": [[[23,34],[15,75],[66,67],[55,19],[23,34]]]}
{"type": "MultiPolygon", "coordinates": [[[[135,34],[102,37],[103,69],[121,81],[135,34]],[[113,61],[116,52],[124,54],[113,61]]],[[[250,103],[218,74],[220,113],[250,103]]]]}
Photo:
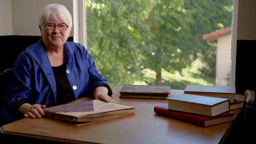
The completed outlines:
{"type": "MultiPolygon", "coordinates": [[[[230,0],[86,0],[87,49],[110,84],[133,84],[145,68],[181,71],[202,34],[232,20],[230,0]]],[[[194,56],[194,57],[192,57],[194,56]]]]}

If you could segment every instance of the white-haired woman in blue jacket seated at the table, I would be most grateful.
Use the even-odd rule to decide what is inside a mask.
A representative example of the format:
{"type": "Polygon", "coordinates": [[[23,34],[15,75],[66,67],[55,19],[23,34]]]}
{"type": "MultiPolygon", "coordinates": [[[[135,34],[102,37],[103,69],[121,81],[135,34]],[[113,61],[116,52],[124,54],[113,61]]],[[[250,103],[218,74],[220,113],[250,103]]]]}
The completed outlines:
{"type": "Polygon", "coordinates": [[[108,81],[81,44],[67,42],[72,17],[60,4],[45,6],[40,14],[42,38],[17,58],[1,113],[2,124],[19,118],[41,118],[42,109],[94,96],[116,102],[108,81]]]}

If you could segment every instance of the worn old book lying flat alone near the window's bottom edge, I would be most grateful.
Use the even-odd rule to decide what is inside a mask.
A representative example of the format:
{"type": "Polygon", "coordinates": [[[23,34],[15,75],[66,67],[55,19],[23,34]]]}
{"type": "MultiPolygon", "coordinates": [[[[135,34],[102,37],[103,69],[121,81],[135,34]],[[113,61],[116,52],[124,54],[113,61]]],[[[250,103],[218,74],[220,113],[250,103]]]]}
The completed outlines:
{"type": "Polygon", "coordinates": [[[166,99],[170,90],[171,86],[124,85],[119,98],[166,99]]]}

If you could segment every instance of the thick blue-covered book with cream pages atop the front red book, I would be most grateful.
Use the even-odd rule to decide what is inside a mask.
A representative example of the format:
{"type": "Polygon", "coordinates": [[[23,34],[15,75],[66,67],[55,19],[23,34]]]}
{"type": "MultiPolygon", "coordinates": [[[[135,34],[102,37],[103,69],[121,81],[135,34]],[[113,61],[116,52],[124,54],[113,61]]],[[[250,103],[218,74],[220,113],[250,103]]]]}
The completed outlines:
{"type": "Polygon", "coordinates": [[[168,100],[168,109],[204,116],[217,116],[229,111],[229,99],[194,94],[174,95],[168,100]]]}

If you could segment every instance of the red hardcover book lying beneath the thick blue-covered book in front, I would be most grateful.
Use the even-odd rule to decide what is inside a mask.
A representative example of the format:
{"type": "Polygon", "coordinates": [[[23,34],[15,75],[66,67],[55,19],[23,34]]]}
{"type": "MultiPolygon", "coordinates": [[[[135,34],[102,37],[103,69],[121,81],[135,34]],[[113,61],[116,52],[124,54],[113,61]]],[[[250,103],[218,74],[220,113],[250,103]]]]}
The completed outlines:
{"type": "Polygon", "coordinates": [[[234,112],[228,111],[214,117],[202,116],[198,114],[190,114],[186,112],[168,110],[168,104],[155,106],[154,112],[157,114],[168,116],[170,118],[175,118],[178,120],[182,120],[182,121],[189,122],[189,123],[196,124],[203,127],[222,124],[225,122],[231,122],[234,120],[234,114],[235,114],[234,112]]]}

